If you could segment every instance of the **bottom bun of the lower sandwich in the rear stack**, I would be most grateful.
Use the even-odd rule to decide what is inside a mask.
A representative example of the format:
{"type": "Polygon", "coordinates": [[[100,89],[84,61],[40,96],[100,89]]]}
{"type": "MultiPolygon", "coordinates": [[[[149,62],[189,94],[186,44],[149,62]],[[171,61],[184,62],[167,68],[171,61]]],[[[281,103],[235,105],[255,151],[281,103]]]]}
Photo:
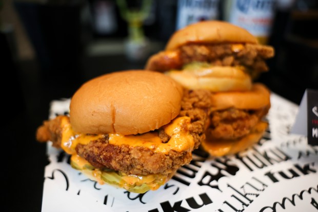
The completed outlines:
{"type": "Polygon", "coordinates": [[[201,147],[215,157],[235,154],[260,141],[267,127],[267,122],[259,122],[247,136],[237,140],[211,140],[209,134],[206,134],[206,140],[201,142],[201,147]]]}

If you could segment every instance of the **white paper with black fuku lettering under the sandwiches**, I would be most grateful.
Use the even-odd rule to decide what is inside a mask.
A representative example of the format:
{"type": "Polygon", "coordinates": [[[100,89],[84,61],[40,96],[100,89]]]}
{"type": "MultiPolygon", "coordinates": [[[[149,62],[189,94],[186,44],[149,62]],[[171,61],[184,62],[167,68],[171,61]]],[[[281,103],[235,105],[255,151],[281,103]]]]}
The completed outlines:
{"type": "MultiPolygon", "coordinates": [[[[68,112],[69,100],[53,101],[50,118],[68,112]]],[[[290,134],[297,105],[271,94],[269,129],[235,156],[211,158],[195,151],[156,191],[134,194],[100,185],[71,168],[69,156],[51,147],[45,168],[42,211],[318,211],[318,147],[290,134]]]]}

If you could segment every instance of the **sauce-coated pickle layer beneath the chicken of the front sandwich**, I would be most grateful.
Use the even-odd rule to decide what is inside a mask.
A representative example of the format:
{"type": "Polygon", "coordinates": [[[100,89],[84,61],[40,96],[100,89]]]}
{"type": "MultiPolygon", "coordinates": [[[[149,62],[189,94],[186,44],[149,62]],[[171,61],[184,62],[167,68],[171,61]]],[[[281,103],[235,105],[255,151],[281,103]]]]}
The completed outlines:
{"type": "Polygon", "coordinates": [[[85,159],[78,155],[71,157],[71,166],[81,171],[89,179],[99,184],[108,184],[118,188],[124,188],[130,192],[143,194],[148,190],[157,190],[168,182],[175,174],[175,170],[167,175],[151,174],[147,176],[126,175],[121,171],[112,169],[98,169],[93,167],[85,159]]]}

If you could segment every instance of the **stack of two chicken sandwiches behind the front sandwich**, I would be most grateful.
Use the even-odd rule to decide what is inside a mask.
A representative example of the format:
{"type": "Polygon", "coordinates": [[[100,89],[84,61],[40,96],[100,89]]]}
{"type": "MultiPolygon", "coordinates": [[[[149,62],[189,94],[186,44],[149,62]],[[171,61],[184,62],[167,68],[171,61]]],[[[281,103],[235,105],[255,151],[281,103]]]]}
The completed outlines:
{"type": "Polygon", "coordinates": [[[271,46],[247,30],[222,21],[203,21],[176,31],[146,69],[164,72],[190,90],[208,90],[209,124],[202,147],[213,156],[246,149],[268,123],[270,91],[255,79],[268,71],[271,46]]]}

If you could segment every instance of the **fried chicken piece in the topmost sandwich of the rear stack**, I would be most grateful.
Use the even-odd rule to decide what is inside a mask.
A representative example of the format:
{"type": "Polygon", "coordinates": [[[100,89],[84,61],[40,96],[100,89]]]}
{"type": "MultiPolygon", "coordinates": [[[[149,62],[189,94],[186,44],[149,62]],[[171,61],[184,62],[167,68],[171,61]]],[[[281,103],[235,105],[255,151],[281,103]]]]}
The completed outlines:
{"type": "Polygon", "coordinates": [[[188,44],[174,52],[154,54],[147,61],[146,69],[164,72],[181,69],[191,62],[207,62],[218,66],[245,66],[256,74],[268,71],[265,60],[273,55],[271,46],[259,44],[188,44]]]}

